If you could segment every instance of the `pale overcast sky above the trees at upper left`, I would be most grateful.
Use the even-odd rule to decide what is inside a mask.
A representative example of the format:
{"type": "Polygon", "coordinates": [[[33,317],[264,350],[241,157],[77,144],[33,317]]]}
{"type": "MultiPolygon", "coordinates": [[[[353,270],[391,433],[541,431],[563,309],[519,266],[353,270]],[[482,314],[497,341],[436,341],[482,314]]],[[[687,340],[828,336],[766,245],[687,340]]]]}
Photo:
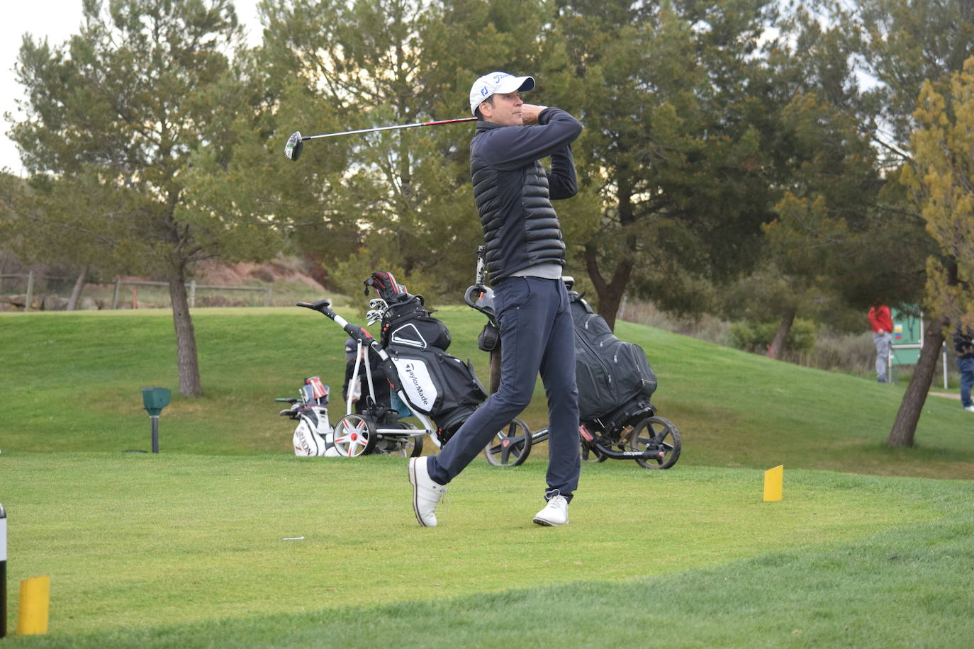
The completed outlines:
{"type": "MultiPolygon", "coordinates": [[[[34,38],[47,36],[52,45],[60,45],[71,34],[80,31],[82,0],[3,0],[0,18],[0,115],[14,114],[15,99],[23,98],[23,88],[14,76],[14,63],[20,50],[24,33],[34,38]]],[[[261,27],[257,20],[257,0],[234,0],[237,18],[244,23],[248,41],[260,42],[261,27]]],[[[0,168],[8,168],[22,174],[17,146],[7,136],[10,123],[0,121],[0,168]]]]}

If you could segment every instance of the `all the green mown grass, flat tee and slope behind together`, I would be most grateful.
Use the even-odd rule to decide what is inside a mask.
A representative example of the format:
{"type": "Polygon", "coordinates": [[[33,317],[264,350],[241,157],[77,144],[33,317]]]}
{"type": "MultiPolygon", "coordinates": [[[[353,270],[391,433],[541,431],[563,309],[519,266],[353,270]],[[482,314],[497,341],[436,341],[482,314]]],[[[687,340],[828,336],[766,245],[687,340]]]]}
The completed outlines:
{"type": "MultiPolygon", "coordinates": [[[[451,351],[486,378],[482,318],[438,315],[451,351]]],[[[684,434],[676,467],[586,463],[571,524],[543,528],[531,523],[543,446],[515,469],[480,459],[426,529],[404,460],[289,450],[273,398],[312,375],[339,393],[344,332],[297,308],[201,309],[194,322],[206,395],[187,400],[168,312],[0,315],[11,632],[18,581],[52,578],[50,634],[3,642],[961,647],[974,636],[974,417],[954,401],[929,398],[918,448],[892,451],[895,387],[619,323],[647,349],[660,415],[684,434]],[[145,385],[174,393],[159,455],[124,452],[149,447],[145,385]],[[762,502],[763,470],[782,463],[784,500],[762,502]]],[[[537,428],[543,416],[539,390],[525,417],[537,428]]]]}

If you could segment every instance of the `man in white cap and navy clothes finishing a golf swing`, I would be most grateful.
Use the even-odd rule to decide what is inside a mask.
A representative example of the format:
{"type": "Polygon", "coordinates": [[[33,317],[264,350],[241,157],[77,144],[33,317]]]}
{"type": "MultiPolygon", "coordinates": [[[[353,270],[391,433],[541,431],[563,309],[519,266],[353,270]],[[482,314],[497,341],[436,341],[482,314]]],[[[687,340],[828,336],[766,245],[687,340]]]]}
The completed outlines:
{"type": "Polygon", "coordinates": [[[470,142],[473,198],[484,231],[487,270],[501,325],[501,384],[439,454],[409,460],[413,509],[436,524],[436,504],[487,443],[519,415],[541,371],[548,399],[548,469],[541,525],[568,523],[579,485],[579,391],[575,333],[561,280],[565,243],[551,199],[578,192],[571,143],[581,123],[563,110],[526,104],[531,77],[491,72],[473,82],[470,142]],[[551,157],[545,172],[540,159],[551,157]]]}

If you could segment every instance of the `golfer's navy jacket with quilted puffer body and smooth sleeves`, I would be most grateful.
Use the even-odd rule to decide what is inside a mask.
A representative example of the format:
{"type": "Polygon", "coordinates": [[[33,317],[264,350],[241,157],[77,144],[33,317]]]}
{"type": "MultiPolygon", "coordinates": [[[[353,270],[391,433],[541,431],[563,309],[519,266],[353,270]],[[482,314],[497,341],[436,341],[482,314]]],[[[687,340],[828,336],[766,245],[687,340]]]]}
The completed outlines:
{"type": "Polygon", "coordinates": [[[538,126],[477,122],[470,142],[473,198],[484,231],[492,282],[538,264],[565,264],[565,242],[552,199],[579,191],[571,143],[581,123],[545,108],[538,126]],[[545,171],[540,159],[551,157],[545,171]]]}

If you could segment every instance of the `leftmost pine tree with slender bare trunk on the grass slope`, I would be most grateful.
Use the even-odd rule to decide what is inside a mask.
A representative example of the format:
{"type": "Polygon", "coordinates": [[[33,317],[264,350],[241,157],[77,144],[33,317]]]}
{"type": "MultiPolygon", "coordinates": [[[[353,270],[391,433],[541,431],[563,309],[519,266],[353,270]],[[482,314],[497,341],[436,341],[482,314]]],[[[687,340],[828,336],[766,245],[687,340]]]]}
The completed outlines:
{"type": "Polygon", "coordinates": [[[252,213],[219,209],[202,172],[226,168],[247,135],[234,130],[251,112],[231,58],[240,37],[231,0],[84,0],[78,34],[60,47],[28,36],[17,66],[28,98],[11,132],[41,201],[38,232],[83,223],[86,259],[166,279],[184,395],[202,393],[185,289],[195,264],[279,246],[252,213]]]}

